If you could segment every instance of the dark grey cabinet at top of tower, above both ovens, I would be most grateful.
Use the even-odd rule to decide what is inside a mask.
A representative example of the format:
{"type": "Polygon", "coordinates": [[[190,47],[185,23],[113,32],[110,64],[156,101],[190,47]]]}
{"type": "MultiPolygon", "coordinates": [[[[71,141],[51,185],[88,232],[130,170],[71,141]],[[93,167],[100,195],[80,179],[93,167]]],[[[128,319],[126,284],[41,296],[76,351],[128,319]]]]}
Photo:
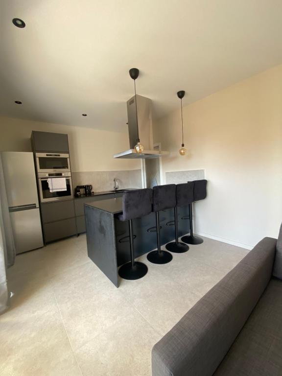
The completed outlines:
{"type": "Polygon", "coordinates": [[[62,133],[32,131],[31,143],[35,152],[69,153],[68,135],[62,133]]]}

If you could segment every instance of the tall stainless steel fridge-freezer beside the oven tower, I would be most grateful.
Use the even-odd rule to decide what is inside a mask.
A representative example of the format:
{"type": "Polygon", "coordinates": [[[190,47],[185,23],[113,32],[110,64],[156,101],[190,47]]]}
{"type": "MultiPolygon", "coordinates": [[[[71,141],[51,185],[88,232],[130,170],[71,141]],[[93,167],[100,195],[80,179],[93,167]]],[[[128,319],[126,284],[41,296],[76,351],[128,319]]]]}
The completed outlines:
{"type": "Polygon", "coordinates": [[[1,152],[16,253],[43,247],[32,153],[1,152]]]}

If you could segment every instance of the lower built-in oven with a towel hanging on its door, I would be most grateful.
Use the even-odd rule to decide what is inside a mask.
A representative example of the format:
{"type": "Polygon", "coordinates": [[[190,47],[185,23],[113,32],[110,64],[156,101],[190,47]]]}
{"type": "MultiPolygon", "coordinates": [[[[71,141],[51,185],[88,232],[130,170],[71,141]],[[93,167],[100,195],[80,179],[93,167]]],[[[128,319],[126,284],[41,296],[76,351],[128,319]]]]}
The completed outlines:
{"type": "Polygon", "coordinates": [[[38,186],[41,202],[61,201],[73,198],[71,173],[40,173],[38,174],[38,186]],[[66,179],[66,190],[51,191],[48,184],[49,178],[66,179]]]}

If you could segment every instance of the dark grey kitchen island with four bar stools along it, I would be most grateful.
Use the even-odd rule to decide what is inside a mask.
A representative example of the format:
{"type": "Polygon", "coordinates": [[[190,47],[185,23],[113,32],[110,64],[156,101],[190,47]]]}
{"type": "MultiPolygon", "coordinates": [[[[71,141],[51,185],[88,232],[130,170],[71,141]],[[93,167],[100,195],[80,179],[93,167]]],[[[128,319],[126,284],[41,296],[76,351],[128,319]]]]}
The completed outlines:
{"type": "MultiPolygon", "coordinates": [[[[84,205],[89,258],[118,287],[118,266],[130,261],[128,222],[118,220],[122,198],[84,205]]],[[[174,211],[160,212],[161,244],[174,240],[174,211]]],[[[189,232],[189,209],[178,209],[179,236],[189,232]]],[[[157,247],[155,213],[133,220],[136,257],[157,247]]]]}

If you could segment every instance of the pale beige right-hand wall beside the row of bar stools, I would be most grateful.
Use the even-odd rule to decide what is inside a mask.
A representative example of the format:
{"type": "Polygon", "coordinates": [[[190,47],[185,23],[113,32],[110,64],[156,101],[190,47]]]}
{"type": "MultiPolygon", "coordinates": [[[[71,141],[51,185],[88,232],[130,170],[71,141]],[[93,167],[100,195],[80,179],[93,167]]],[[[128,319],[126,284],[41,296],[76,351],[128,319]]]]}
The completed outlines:
{"type": "Polygon", "coordinates": [[[165,171],[206,171],[208,197],[195,205],[195,231],[247,247],[263,236],[277,237],[282,221],[282,66],[184,107],[183,116],[187,156],[178,154],[179,110],[155,124],[154,141],[171,153],[163,158],[164,177],[165,171]]]}

